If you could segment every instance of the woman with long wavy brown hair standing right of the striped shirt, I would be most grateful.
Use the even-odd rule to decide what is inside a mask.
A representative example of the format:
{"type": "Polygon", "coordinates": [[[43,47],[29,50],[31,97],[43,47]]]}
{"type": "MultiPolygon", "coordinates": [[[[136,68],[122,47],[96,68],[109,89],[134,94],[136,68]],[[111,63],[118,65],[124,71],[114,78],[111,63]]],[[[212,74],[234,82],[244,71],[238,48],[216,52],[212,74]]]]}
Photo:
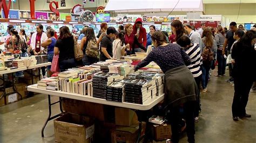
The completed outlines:
{"type": "Polygon", "coordinates": [[[206,49],[210,49],[211,52],[213,52],[213,55],[212,55],[213,57],[210,60],[204,59],[204,55],[203,55],[203,65],[201,66],[202,72],[203,72],[202,87],[203,87],[203,92],[206,92],[208,79],[209,79],[209,71],[212,67],[212,64],[213,64],[213,61],[215,59],[216,52],[217,52],[217,44],[216,44],[214,37],[212,36],[212,31],[210,28],[205,28],[205,30],[203,31],[202,48],[203,48],[202,54],[204,54],[204,51],[206,49]]]}

